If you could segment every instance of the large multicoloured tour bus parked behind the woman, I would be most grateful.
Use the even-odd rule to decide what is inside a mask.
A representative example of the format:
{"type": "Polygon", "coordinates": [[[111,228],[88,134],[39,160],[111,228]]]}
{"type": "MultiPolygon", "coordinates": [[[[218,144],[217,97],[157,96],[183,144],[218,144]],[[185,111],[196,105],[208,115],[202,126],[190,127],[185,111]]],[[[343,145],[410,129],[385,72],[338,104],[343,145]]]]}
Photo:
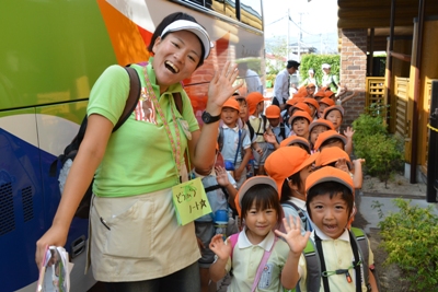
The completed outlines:
{"type": "MultiPolygon", "coordinates": [[[[226,60],[247,62],[264,81],[262,0],[1,2],[0,291],[36,290],[35,243],[61,196],[49,168],[78,132],[93,83],[113,63],[147,61],[154,27],[177,11],[195,16],[215,44],[183,82],[197,117],[226,60]]],[[[88,223],[74,218],[65,246],[74,264],[70,291],[95,283],[91,271],[84,275],[88,223]]]]}

